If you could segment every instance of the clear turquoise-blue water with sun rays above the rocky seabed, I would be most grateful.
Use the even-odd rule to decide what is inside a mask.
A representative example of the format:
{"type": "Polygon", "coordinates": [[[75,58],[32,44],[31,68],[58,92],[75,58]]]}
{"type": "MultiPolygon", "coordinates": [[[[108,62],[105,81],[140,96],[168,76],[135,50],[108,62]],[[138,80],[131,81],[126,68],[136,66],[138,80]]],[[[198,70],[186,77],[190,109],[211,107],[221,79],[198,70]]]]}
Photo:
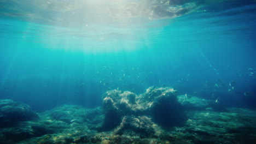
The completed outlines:
{"type": "Polygon", "coordinates": [[[96,107],[110,89],[139,94],[157,86],[255,107],[253,1],[208,3],[160,20],[65,19],[67,12],[45,13],[40,5],[22,11],[26,2],[1,2],[0,99],[40,112],[62,104],[96,107]]]}

